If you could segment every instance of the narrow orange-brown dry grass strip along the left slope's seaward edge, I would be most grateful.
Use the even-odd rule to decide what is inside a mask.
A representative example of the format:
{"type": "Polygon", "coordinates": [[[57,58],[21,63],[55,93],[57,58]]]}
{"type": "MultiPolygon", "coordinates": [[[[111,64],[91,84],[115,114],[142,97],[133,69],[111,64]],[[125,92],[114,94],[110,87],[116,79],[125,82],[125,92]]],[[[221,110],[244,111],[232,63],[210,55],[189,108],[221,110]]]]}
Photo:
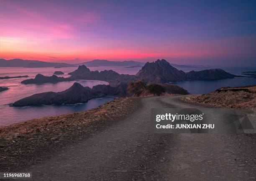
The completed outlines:
{"type": "Polygon", "coordinates": [[[131,100],[126,98],[115,99],[95,109],[69,113],[55,117],[42,117],[38,119],[18,122],[6,127],[0,127],[0,138],[13,137],[28,133],[43,133],[52,129],[61,129],[69,126],[83,125],[97,118],[115,115],[115,108],[124,108],[131,100]]]}

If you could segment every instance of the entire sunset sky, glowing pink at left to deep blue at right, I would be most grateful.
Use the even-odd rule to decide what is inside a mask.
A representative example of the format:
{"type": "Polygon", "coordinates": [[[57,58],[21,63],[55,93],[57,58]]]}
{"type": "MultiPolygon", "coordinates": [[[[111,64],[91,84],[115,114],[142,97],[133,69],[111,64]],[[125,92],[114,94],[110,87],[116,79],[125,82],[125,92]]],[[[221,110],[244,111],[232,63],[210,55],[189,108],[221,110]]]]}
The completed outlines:
{"type": "Polygon", "coordinates": [[[0,58],[256,66],[256,1],[0,0],[0,58]]]}

